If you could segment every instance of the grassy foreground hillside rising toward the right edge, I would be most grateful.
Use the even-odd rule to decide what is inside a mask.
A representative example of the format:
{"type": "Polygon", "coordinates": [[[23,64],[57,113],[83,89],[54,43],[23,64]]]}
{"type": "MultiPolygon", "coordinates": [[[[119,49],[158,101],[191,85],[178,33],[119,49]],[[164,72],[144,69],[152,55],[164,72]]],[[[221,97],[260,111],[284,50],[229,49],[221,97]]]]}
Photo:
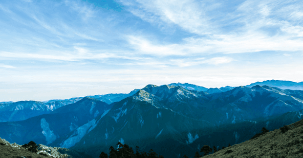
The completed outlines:
{"type": "Polygon", "coordinates": [[[303,158],[303,120],[203,158],[303,158]]]}

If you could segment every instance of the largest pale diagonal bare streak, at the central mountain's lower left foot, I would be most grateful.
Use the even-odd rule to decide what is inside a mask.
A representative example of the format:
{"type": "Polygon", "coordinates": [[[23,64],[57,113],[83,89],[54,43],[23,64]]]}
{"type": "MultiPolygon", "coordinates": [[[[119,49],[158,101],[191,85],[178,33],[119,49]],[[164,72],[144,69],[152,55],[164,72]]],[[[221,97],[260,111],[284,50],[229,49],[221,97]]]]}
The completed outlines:
{"type": "Polygon", "coordinates": [[[72,135],[65,140],[63,143],[60,144],[63,148],[70,148],[74,146],[77,142],[79,142],[87,133],[89,133],[92,129],[96,127],[97,123],[96,120],[91,120],[90,122],[80,126],[72,135]]]}

